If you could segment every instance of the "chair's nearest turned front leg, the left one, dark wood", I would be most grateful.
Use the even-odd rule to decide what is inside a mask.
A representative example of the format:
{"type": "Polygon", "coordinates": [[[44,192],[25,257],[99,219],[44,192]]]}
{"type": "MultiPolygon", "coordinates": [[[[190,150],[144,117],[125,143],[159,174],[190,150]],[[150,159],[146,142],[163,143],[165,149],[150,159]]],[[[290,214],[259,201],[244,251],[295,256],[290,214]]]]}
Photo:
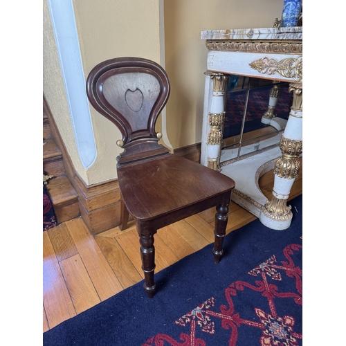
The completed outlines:
{"type": "Polygon", "coordinates": [[[155,248],[154,236],[141,236],[140,235],[140,257],[142,258],[142,269],[144,272],[145,282],[144,290],[147,292],[149,298],[154,297],[156,284],[154,282],[155,270],[155,248]]]}

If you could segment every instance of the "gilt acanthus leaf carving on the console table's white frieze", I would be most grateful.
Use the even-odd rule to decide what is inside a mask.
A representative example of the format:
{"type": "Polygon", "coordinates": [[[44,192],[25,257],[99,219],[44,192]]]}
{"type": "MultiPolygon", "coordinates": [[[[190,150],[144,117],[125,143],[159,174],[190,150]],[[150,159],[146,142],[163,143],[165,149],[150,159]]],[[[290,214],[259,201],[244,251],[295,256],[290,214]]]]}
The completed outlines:
{"type": "Polygon", "coordinates": [[[251,69],[264,75],[275,75],[275,73],[280,73],[283,77],[293,78],[298,82],[302,80],[302,57],[298,57],[298,59],[286,57],[282,60],[262,57],[259,60],[251,62],[249,65],[251,69]]]}

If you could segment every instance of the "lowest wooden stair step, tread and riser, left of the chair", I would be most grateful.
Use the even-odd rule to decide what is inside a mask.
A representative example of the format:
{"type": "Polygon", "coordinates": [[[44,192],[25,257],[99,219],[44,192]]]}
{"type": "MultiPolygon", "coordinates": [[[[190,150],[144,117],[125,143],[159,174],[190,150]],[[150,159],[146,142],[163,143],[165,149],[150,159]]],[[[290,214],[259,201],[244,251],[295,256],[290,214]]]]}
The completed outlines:
{"type": "Polygon", "coordinates": [[[59,224],[80,216],[78,194],[66,175],[50,179],[46,187],[59,224]]]}

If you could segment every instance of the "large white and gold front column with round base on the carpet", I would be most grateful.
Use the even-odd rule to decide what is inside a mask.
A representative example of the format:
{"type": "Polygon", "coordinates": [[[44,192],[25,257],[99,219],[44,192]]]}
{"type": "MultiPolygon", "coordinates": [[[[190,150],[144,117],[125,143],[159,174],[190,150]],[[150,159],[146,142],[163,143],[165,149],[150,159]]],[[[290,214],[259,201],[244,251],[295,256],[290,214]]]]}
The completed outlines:
{"type": "Polygon", "coordinates": [[[302,84],[290,84],[289,91],[293,92],[293,104],[280,140],[282,156],[275,163],[273,197],[260,214],[262,224],[275,230],[285,230],[291,225],[291,206],[286,202],[298,175],[298,158],[302,154],[302,84]]]}

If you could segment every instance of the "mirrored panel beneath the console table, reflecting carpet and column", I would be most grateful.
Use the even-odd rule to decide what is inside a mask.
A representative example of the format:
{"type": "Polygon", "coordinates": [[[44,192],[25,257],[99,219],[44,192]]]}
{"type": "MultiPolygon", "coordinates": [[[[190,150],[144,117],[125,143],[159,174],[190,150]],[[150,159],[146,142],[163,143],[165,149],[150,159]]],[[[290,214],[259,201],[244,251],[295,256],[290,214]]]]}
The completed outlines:
{"type": "Polygon", "coordinates": [[[289,83],[230,76],[220,164],[277,145],[292,100],[289,83]]]}

